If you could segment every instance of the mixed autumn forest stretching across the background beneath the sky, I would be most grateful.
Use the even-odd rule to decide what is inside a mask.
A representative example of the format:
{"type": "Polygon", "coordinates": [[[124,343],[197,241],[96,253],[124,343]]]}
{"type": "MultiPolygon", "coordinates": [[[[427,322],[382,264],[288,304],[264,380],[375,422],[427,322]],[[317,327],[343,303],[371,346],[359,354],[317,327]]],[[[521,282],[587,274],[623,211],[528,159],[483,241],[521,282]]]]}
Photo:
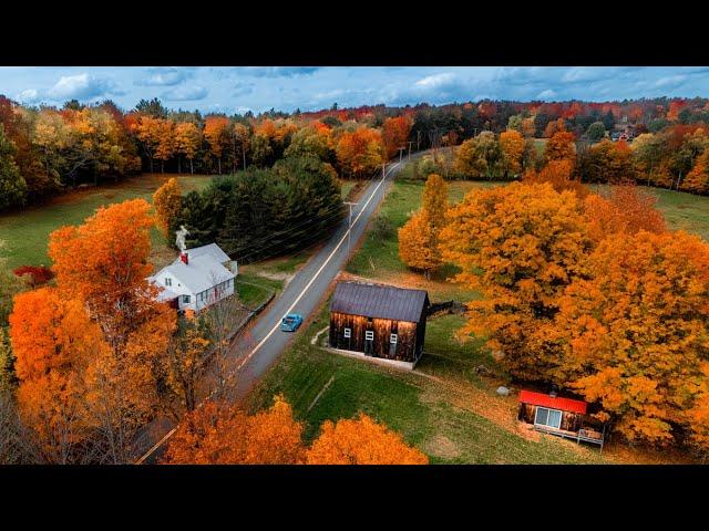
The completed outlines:
{"type": "MultiPolygon", "coordinates": [[[[37,204],[80,185],[115,181],[141,171],[223,174],[250,165],[269,167],[284,157],[294,140],[296,149],[317,150],[328,158],[338,175],[361,178],[400,147],[454,146],[481,132],[501,134],[507,129],[518,131],[525,138],[552,137],[561,126],[575,138],[589,140],[600,139],[602,127],[606,132],[624,125],[633,126],[636,135],[656,135],[641,142],[649,143],[651,147],[645,152],[653,153],[644,152],[643,164],[649,166],[639,169],[644,176],[657,170],[656,181],[666,186],[662,183],[670,180],[681,184],[692,168],[687,169],[686,160],[679,159],[657,166],[659,155],[654,146],[661,144],[672,153],[677,135],[688,129],[671,127],[696,131],[706,128],[707,123],[706,98],[605,103],[485,100],[441,106],[340,110],[333,105],[309,113],[271,110],[258,116],[250,112],[203,116],[198,111],[167,110],[157,98],[142,100],[125,112],[111,101],[94,105],[70,101],[55,108],[23,106],[0,96],[0,209],[37,204]],[[674,171],[675,179],[668,171],[674,171]],[[678,177],[680,173],[682,177],[678,177]]],[[[491,164],[489,171],[494,169],[491,164]]],[[[695,191],[692,187],[698,188],[687,185],[695,191]]]]}

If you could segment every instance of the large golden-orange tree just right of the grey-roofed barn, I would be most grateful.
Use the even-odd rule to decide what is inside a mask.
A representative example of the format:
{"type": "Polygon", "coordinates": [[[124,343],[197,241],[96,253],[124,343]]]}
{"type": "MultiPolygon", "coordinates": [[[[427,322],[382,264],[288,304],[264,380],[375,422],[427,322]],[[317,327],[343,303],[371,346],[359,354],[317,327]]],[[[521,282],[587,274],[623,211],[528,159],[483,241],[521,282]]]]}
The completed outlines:
{"type": "Polygon", "coordinates": [[[586,230],[576,195],[546,183],[469,192],[441,231],[443,260],[462,269],[456,280],[485,295],[469,303],[461,334],[486,335],[513,375],[545,379],[554,353],[537,344],[537,331],[558,312],[564,288],[588,272],[586,230]]]}

